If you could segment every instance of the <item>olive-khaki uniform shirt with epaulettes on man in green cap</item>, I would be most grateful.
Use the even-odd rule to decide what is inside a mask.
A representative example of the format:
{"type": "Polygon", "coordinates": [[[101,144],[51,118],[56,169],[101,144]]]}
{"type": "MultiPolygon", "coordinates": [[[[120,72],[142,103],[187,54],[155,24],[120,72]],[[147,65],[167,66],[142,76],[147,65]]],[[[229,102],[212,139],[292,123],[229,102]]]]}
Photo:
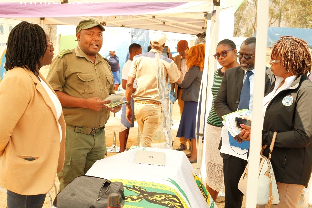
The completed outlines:
{"type": "MultiPolygon", "coordinates": [[[[108,64],[97,54],[95,63],[77,46],[63,50],[50,65],[47,80],[54,90],[79,98],[99,97],[104,100],[115,93],[113,75],[108,64]]],[[[98,128],[106,124],[108,109],[62,107],[66,124],[98,128]]]]}

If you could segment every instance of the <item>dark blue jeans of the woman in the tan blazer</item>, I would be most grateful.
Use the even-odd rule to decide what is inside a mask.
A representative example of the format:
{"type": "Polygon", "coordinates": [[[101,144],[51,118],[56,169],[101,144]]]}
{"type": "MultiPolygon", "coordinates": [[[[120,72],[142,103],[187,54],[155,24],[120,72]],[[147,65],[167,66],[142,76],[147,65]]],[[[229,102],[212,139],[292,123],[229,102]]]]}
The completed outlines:
{"type": "Polygon", "coordinates": [[[47,194],[20,195],[7,190],[8,208],[42,208],[47,194]]]}

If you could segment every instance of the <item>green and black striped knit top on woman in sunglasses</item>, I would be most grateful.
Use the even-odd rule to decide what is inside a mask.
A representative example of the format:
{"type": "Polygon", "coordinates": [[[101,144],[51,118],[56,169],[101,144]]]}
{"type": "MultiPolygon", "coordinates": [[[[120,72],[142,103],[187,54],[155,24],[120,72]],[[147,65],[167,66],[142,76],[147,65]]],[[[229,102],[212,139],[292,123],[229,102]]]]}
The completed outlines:
{"type": "Polygon", "coordinates": [[[222,122],[220,121],[219,117],[217,116],[216,112],[214,111],[214,100],[217,97],[218,90],[221,86],[222,78],[224,73],[221,72],[222,68],[219,68],[214,72],[214,83],[212,85],[212,104],[211,109],[209,112],[209,116],[207,119],[207,123],[213,126],[221,126],[222,122]]]}

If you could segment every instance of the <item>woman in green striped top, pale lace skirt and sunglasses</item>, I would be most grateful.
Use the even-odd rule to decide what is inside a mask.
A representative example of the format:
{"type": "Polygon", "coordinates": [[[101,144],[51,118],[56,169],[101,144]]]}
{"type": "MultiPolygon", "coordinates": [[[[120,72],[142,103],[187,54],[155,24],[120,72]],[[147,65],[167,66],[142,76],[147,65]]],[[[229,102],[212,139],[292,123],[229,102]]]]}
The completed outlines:
{"type": "Polygon", "coordinates": [[[223,180],[223,159],[218,150],[219,141],[221,138],[221,121],[214,112],[214,99],[217,96],[218,90],[221,86],[222,77],[225,70],[238,67],[239,63],[236,59],[236,45],[233,41],[224,39],[217,45],[216,54],[214,58],[218,60],[222,68],[214,72],[214,83],[212,85],[212,106],[209,112],[206,125],[206,187],[209,194],[217,200],[218,193],[221,190],[223,180]]]}

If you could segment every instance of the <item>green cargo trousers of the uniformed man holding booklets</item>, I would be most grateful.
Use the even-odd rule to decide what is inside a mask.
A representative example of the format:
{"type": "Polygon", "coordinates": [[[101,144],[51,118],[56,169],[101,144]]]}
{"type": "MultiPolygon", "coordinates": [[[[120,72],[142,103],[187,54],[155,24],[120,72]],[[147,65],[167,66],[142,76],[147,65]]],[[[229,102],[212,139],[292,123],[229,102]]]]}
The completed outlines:
{"type": "Polygon", "coordinates": [[[105,131],[96,131],[93,135],[75,132],[66,127],[65,162],[59,172],[58,180],[62,191],[76,177],[83,176],[97,160],[105,157],[105,131]]]}

